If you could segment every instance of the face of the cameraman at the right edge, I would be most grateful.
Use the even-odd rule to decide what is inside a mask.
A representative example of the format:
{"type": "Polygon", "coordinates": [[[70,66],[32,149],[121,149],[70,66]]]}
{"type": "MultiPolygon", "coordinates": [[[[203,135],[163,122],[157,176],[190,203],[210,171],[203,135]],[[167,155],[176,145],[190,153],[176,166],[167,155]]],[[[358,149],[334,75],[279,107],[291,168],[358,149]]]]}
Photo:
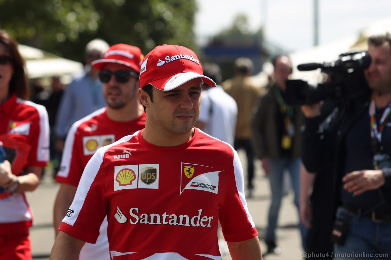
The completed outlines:
{"type": "Polygon", "coordinates": [[[391,88],[391,48],[389,44],[369,46],[371,56],[369,68],[364,70],[368,85],[374,91],[386,91],[391,88]]]}

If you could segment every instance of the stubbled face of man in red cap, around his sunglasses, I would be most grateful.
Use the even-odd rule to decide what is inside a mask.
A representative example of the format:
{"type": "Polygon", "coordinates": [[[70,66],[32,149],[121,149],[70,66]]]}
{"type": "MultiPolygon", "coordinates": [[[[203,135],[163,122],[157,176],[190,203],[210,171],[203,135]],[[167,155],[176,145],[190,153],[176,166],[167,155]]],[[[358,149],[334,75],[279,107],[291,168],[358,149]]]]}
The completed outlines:
{"type": "MultiPolygon", "coordinates": [[[[118,63],[107,63],[103,66],[102,71],[110,71],[115,73],[117,71],[133,71],[133,69],[118,63]]],[[[115,75],[111,75],[109,82],[103,83],[103,96],[108,107],[112,109],[121,109],[130,102],[138,102],[138,80],[130,76],[125,83],[118,82],[115,75]]]]}

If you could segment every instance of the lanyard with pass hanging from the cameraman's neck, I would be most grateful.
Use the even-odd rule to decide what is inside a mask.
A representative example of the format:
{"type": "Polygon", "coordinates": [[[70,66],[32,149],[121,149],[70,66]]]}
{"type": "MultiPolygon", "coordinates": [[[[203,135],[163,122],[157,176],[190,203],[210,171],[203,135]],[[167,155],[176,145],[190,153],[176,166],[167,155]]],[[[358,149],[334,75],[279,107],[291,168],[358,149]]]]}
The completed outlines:
{"type": "Polygon", "coordinates": [[[391,103],[384,110],[382,118],[380,118],[379,126],[377,126],[375,115],[375,101],[373,96],[371,97],[371,104],[369,105],[369,118],[370,118],[370,130],[371,130],[371,150],[373,151],[373,166],[375,169],[389,168],[390,157],[387,153],[384,153],[384,147],[382,144],[382,133],[384,126],[386,125],[391,114],[391,103]]]}

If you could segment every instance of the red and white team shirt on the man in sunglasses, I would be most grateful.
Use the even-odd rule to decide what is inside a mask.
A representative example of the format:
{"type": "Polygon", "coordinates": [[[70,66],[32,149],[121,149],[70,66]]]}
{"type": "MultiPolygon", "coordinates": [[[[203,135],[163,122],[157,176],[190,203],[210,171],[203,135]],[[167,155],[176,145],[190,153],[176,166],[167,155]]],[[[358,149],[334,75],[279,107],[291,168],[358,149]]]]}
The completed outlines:
{"type": "MultiPolygon", "coordinates": [[[[57,182],[77,187],[84,167],[100,147],[112,144],[144,127],[145,113],[132,121],[117,122],[108,118],[106,107],[75,122],[66,137],[60,170],[56,176],[57,182]]],[[[83,246],[80,259],[107,260],[110,258],[106,219],[102,222],[99,233],[95,244],[86,243],[83,246]]]]}

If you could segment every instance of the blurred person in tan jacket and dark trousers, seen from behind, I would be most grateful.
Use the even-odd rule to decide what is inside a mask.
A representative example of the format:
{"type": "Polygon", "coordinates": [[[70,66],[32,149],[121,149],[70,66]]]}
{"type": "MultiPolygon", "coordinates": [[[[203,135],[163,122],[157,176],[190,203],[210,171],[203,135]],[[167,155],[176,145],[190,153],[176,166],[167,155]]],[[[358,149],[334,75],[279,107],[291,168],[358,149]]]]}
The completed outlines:
{"type": "Polygon", "coordinates": [[[253,73],[253,62],[248,58],[235,60],[235,75],[221,85],[226,93],[235,100],[238,116],[235,130],[235,150],[244,149],[247,156],[247,196],[253,196],[254,153],[251,144],[251,118],[258,101],[260,88],[256,87],[249,76],[253,73]]]}

